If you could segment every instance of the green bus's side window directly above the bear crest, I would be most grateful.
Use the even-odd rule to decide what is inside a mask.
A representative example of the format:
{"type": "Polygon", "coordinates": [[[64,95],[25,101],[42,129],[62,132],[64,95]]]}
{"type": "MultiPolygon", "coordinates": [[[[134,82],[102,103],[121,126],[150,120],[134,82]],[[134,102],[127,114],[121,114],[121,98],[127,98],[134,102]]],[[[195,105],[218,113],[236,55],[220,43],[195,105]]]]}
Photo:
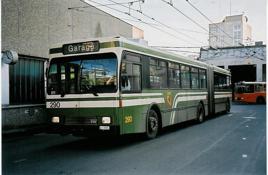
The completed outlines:
{"type": "Polygon", "coordinates": [[[180,65],[169,63],[169,87],[180,88],[180,65]]]}

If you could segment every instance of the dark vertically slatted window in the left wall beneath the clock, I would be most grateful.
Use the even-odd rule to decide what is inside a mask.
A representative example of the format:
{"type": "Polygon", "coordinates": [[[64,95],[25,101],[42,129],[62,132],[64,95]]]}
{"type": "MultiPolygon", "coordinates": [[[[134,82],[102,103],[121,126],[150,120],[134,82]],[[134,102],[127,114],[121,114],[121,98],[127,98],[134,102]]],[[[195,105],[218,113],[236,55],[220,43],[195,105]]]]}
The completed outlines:
{"type": "Polygon", "coordinates": [[[9,105],[45,103],[45,61],[19,58],[9,65],[9,105]]]}

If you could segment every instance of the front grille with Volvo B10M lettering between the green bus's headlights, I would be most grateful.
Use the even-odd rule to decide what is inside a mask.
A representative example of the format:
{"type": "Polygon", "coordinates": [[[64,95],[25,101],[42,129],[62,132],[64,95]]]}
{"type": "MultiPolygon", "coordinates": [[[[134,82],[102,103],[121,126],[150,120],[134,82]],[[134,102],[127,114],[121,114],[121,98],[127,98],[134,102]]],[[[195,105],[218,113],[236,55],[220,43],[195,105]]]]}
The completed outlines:
{"type": "Polygon", "coordinates": [[[66,116],[64,125],[97,125],[96,116],[66,116]]]}

